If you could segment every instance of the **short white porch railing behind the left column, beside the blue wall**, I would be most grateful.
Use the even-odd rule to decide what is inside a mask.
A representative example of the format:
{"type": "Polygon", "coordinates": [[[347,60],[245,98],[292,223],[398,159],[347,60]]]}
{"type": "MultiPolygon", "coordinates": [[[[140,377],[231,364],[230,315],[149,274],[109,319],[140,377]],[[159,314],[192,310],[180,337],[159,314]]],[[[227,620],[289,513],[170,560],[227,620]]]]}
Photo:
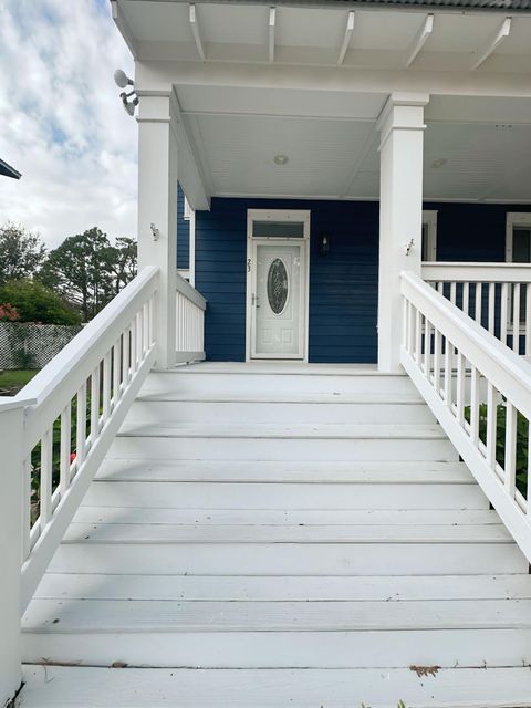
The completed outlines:
{"type": "Polygon", "coordinates": [[[205,310],[207,301],[177,273],[176,282],[177,363],[205,358],[205,310]]]}

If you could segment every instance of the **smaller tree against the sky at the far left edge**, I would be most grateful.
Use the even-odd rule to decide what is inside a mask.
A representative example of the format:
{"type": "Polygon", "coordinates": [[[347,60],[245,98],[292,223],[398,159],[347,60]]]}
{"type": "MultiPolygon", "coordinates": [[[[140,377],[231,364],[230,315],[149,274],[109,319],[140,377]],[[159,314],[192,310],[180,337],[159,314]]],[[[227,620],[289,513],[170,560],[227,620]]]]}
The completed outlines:
{"type": "Polygon", "coordinates": [[[38,233],[9,221],[0,227],[0,285],[34,275],[45,257],[38,233]]]}

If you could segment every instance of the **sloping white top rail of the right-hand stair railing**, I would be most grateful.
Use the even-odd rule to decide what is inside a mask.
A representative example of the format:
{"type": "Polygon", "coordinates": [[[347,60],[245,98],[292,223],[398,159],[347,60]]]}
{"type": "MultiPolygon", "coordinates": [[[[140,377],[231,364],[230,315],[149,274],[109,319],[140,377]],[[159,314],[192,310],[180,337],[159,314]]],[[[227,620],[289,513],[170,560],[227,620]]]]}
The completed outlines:
{"type": "Polygon", "coordinates": [[[457,348],[531,419],[531,366],[418,275],[403,271],[403,293],[457,348]]]}

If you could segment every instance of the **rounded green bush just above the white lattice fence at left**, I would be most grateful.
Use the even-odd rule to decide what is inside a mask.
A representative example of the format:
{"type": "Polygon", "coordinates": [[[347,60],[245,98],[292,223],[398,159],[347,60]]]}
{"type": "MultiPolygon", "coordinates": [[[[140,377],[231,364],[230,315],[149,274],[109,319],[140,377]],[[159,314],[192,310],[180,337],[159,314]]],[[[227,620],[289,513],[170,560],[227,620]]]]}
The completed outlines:
{"type": "Polygon", "coordinates": [[[20,322],[81,324],[81,317],[60,295],[35,280],[10,280],[0,285],[0,303],[15,308],[20,322]]]}

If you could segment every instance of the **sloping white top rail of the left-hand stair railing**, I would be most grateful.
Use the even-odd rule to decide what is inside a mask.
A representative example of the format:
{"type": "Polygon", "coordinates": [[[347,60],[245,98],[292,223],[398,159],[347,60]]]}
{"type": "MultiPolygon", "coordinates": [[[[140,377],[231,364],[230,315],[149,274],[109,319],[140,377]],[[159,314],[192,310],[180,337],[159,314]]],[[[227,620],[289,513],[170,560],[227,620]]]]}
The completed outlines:
{"type": "Polygon", "coordinates": [[[158,269],[145,268],[19,392],[14,400],[33,399],[34,405],[29,406],[32,414],[53,396],[59,414],[72,396],[69,379],[73,384],[72,377],[82,382],[90,376],[100,352],[113,344],[118,323],[134,315],[142,301],[156,291],[157,282],[158,269]]]}

